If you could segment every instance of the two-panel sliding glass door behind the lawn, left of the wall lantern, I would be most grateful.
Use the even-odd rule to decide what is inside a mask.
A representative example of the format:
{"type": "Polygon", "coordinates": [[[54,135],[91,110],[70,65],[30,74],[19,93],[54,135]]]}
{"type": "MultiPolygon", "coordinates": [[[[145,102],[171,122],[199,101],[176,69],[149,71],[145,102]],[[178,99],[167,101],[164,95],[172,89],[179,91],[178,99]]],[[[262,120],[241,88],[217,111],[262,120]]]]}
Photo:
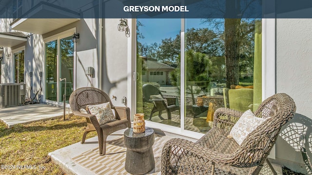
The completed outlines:
{"type": "Polygon", "coordinates": [[[45,95],[46,100],[63,102],[66,78],[66,103],[73,92],[74,43],[72,37],[61,37],[45,43],[45,95]]]}

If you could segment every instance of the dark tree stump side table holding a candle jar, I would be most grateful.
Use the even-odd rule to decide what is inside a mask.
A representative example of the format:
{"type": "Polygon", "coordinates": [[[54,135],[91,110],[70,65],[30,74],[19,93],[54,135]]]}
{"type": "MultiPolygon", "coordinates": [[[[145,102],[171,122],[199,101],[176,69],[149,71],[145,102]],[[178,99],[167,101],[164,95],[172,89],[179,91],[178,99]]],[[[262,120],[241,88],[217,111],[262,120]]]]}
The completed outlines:
{"type": "Polygon", "coordinates": [[[145,127],[145,132],[134,133],[133,128],[124,132],[124,143],[127,148],[125,169],[133,175],[142,175],[155,168],[153,144],[154,130],[145,127]]]}

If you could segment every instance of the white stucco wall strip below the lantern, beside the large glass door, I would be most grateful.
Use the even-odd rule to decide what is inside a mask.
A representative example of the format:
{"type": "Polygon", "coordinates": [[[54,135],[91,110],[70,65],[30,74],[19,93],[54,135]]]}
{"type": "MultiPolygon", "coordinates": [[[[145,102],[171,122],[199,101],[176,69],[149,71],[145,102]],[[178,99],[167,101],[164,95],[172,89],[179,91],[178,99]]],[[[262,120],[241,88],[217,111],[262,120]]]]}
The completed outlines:
{"type": "MultiPolygon", "coordinates": [[[[103,58],[102,58],[102,89],[112,98],[116,106],[124,106],[121,99],[126,97],[128,104],[130,103],[127,96],[127,64],[128,63],[128,40],[125,32],[119,32],[117,25],[119,19],[107,18],[103,19],[103,58]]],[[[128,25],[131,28],[131,19],[128,19],[128,25]]]]}

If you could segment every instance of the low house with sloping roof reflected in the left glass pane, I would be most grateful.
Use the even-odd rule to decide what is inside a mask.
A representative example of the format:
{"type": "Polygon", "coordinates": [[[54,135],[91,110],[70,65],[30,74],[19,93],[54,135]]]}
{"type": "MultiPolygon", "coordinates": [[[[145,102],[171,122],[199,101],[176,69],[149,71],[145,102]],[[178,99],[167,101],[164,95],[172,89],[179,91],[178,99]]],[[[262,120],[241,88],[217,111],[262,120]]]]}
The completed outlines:
{"type": "Polygon", "coordinates": [[[175,68],[160,63],[157,61],[157,59],[149,58],[141,56],[143,62],[143,68],[145,70],[142,70],[142,81],[143,82],[156,82],[160,85],[171,85],[170,83],[170,72],[175,70],[175,68]]]}

